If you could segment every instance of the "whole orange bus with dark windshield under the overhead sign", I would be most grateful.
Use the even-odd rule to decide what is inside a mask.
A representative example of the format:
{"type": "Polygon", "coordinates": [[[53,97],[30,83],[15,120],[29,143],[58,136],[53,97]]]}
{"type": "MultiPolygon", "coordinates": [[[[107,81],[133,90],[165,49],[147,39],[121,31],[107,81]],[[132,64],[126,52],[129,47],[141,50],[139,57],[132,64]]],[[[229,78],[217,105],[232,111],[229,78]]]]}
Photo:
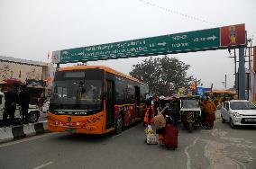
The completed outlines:
{"type": "Polygon", "coordinates": [[[48,111],[50,131],[103,134],[122,132],[142,120],[147,84],[109,67],[59,68],[48,111]]]}

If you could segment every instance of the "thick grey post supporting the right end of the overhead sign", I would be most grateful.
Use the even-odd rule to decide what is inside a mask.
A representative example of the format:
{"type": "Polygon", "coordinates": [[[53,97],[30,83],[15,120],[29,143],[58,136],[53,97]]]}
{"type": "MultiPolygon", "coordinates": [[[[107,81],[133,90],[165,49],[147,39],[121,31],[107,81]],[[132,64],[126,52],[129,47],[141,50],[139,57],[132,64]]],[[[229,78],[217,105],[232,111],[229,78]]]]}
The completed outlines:
{"type": "Polygon", "coordinates": [[[238,89],[238,97],[240,100],[245,99],[245,67],[244,67],[245,59],[244,59],[244,47],[239,48],[239,89],[238,89]]]}

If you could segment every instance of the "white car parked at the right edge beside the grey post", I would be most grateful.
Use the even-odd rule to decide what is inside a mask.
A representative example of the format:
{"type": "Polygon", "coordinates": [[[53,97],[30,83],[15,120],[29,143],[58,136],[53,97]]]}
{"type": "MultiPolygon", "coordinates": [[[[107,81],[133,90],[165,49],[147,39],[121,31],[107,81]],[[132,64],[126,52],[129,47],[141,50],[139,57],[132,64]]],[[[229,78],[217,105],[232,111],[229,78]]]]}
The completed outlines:
{"type": "Polygon", "coordinates": [[[238,125],[256,125],[256,106],[246,100],[224,102],[221,108],[223,122],[229,122],[231,128],[238,125]]]}

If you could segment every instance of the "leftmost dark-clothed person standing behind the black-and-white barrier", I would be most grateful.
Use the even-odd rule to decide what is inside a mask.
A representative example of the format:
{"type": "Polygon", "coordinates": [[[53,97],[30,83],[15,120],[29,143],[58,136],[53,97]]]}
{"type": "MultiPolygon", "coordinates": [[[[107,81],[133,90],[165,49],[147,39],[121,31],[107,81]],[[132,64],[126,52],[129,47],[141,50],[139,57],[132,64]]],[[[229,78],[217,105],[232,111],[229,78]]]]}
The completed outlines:
{"type": "Polygon", "coordinates": [[[14,113],[16,110],[16,103],[18,103],[18,94],[14,92],[13,85],[6,86],[7,92],[5,93],[5,110],[3,113],[4,125],[8,125],[7,118],[10,116],[10,124],[14,125],[14,113]]]}

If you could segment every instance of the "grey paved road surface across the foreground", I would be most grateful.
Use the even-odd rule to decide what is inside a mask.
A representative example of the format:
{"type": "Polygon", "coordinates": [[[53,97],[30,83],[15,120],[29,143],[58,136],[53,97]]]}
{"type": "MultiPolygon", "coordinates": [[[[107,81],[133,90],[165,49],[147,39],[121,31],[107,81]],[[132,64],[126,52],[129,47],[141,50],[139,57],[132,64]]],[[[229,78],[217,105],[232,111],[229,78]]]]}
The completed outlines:
{"type": "Polygon", "coordinates": [[[142,124],[120,135],[47,133],[0,145],[0,168],[256,168],[256,128],[230,129],[218,118],[212,130],[179,127],[177,150],[145,145],[142,124]]]}

